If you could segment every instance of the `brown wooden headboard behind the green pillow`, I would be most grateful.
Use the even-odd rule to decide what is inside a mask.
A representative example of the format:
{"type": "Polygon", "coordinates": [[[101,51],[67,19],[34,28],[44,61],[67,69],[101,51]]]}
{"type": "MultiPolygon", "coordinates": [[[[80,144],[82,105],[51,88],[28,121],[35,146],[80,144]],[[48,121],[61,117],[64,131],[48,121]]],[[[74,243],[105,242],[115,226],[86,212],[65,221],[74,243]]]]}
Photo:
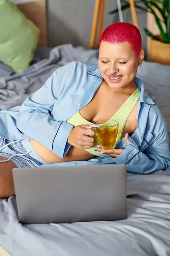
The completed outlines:
{"type": "Polygon", "coordinates": [[[40,29],[38,46],[47,46],[46,0],[20,3],[17,7],[40,29]]]}

